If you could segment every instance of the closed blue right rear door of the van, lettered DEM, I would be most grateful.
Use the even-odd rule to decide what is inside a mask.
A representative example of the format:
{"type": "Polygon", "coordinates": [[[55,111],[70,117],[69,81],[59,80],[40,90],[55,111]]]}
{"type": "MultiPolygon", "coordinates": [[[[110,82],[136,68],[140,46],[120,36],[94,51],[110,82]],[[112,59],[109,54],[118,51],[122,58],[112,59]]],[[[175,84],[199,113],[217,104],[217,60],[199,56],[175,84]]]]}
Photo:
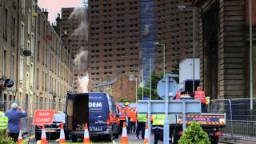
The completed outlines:
{"type": "Polygon", "coordinates": [[[106,94],[89,93],[90,132],[104,132],[107,129],[109,105],[106,94]]]}

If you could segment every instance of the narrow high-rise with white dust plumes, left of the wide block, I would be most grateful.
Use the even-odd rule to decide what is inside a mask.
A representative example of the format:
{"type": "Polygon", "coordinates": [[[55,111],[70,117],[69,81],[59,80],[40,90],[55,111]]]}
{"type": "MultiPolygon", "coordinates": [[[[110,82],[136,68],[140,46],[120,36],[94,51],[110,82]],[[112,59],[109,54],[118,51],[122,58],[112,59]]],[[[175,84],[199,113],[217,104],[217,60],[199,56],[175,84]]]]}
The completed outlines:
{"type": "Polygon", "coordinates": [[[87,87],[84,86],[87,84],[86,82],[82,82],[83,78],[88,78],[87,73],[87,30],[84,31],[84,34],[76,34],[76,30],[78,30],[79,26],[82,26],[84,21],[86,20],[86,10],[85,8],[62,8],[62,18],[58,16],[57,28],[58,32],[66,46],[67,50],[72,56],[72,59],[75,63],[74,65],[74,76],[73,76],[73,89],[74,93],[78,92],[87,92],[87,87]],[[75,9],[81,10],[83,18],[72,17],[72,12],[75,12],[75,9]],[[71,18],[71,17],[72,18],[71,18]]]}

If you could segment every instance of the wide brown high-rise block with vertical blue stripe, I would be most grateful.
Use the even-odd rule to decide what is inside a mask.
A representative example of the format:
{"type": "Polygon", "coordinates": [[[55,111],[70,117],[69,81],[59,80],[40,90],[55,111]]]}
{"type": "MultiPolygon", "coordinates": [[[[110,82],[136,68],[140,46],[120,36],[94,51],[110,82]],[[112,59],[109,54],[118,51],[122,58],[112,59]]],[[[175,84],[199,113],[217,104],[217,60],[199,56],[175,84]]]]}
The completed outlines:
{"type": "MultiPolygon", "coordinates": [[[[91,88],[122,74],[143,75],[148,82],[150,61],[151,69],[162,73],[163,45],[154,42],[166,46],[166,72],[178,71],[182,59],[192,58],[191,0],[92,0],[88,4],[91,88]]],[[[135,91],[131,97],[135,97],[135,91]]]]}

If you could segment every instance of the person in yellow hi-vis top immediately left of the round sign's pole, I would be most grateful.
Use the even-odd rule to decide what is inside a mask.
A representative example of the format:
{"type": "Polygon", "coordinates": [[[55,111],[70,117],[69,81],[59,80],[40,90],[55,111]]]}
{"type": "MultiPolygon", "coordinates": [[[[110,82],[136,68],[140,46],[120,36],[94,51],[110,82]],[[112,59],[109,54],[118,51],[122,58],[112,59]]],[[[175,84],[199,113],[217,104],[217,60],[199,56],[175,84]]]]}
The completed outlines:
{"type": "Polygon", "coordinates": [[[161,115],[153,115],[153,133],[154,133],[154,144],[158,144],[158,140],[161,138],[161,135],[163,134],[163,126],[165,124],[165,118],[166,116],[161,115]]]}

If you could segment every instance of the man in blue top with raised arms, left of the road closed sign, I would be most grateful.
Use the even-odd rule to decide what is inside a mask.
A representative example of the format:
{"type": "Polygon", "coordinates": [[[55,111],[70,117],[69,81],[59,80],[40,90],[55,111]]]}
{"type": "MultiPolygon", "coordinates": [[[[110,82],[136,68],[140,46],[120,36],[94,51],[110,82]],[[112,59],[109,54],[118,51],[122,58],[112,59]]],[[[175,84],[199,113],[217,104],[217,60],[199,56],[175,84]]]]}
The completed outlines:
{"type": "Polygon", "coordinates": [[[26,117],[25,111],[22,107],[18,106],[17,103],[13,103],[10,106],[10,110],[6,112],[6,116],[8,118],[8,135],[10,138],[14,139],[14,142],[18,141],[18,133],[20,130],[19,123],[21,118],[26,117]]]}

